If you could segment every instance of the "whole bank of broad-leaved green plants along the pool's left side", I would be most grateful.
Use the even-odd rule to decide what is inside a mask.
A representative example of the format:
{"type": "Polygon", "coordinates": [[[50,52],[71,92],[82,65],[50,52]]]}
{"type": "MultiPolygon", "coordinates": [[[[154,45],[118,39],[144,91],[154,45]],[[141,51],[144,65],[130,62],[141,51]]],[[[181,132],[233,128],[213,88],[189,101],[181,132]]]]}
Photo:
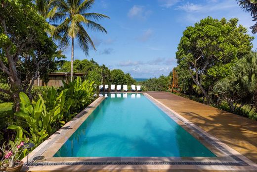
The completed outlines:
{"type": "Polygon", "coordinates": [[[54,87],[38,95],[37,101],[30,101],[29,97],[20,93],[20,111],[15,115],[22,121],[9,125],[9,129],[16,130],[18,139],[31,138],[36,146],[53,134],[63,124],[79,113],[93,100],[93,82],[82,81],[78,77],[73,82],[56,90],[54,87]]]}

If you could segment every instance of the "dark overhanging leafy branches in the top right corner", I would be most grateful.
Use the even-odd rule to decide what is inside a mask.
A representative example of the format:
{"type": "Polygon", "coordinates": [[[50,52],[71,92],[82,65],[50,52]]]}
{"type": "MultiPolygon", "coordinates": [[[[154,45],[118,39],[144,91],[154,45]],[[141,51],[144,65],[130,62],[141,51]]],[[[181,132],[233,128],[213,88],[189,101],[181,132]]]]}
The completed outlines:
{"type": "MultiPolygon", "coordinates": [[[[250,12],[253,17],[253,21],[257,21],[257,0],[237,0],[241,8],[250,12]]],[[[252,32],[257,33],[257,23],[254,26],[251,26],[252,32]]]]}

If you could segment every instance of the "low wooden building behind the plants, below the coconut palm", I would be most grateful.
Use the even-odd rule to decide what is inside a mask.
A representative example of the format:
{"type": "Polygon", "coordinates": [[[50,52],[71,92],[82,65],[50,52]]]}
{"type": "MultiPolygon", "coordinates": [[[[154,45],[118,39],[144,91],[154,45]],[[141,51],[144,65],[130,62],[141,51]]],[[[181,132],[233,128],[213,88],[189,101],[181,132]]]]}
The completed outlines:
{"type": "MultiPolygon", "coordinates": [[[[34,86],[54,86],[54,87],[60,87],[63,86],[62,81],[65,81],[66,83],[70,81],[71,73],[69,72],[52,72],[48,73],[49,75],[49,82],[45,84],[42,79],[38,78],[34,81],[34,86]]],[[[84,76],[84,73],[73,73],[73,76],[84,76]]]]}

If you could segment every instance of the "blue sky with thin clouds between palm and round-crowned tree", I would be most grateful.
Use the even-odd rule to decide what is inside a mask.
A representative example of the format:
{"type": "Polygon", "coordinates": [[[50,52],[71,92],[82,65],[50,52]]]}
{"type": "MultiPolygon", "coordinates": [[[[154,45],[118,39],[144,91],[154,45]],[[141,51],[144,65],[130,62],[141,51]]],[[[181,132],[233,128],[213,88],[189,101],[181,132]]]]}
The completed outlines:
{"type": "MultiPolygon", "coordinates": [[[[254,24],[250,13],[235,0],[95,0],[90,12],[110,17],[98,21],[108,33],[88,31],[97,49],[91,49],[89,56],[75,41],[75,59],[93,58],[110,69],[129,72],[134,78],[168,75],[176,66],[175,53],[182,32],[202,18],[236,17],[248,29],[254,24]]],[[[253,44],[256,49],[257,40],[253,44]]],[[[64,54],[70,60],[70,48],[64,54]]]]}

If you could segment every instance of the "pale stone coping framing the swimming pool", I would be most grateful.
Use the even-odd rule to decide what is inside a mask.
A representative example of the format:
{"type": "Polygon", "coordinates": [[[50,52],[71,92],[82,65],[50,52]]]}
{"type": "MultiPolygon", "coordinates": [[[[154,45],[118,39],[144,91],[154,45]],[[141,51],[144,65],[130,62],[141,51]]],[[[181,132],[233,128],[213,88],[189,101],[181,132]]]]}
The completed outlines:
{"type": "MultiPolygon", "coordinates": [[[[124,93],[124,92],[118,92],[124,93]]],[[[29,154],[29,166],[23,171],[69,171],[79,170],[240,170],[257,171],[257,165],[234,149],[208,134],[147,93],[142,93],[158,108],[170,116],[176,123],[196,137],[217,157],[53,157],[86,118],[105,99],[97,98],[80,114],[66,123],[60,130],[45,140],[29,154]]],[[[26,157],[23,162],[27,162],[26,157]]]]}

